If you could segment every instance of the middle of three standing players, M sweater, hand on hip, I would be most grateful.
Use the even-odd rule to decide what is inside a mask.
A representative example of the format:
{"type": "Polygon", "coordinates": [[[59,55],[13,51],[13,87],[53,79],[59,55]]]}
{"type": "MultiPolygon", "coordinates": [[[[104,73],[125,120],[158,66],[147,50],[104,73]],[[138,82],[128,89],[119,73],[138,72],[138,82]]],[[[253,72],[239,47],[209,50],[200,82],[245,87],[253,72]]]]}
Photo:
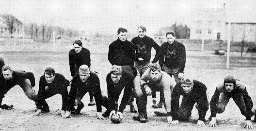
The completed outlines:
{"type": "MultiPolygon", "coordinates": [[[[144,26],[138,27],[138,36],[133,38],[131,42],[134,44],[136,54],[134,67],[142,75],[145,72],[145,70],[152,65],[152,63],[156,63],[159,60],[160,46],[154,41],[154,39],[146,36],[146,28],[144,26]],[[156,55],[153,61],[150,62],[152,47],[156,50],[156,55]]],[[[152,92],[152,98],[152,107],[155,107],[156,92],[152,92]]]]}

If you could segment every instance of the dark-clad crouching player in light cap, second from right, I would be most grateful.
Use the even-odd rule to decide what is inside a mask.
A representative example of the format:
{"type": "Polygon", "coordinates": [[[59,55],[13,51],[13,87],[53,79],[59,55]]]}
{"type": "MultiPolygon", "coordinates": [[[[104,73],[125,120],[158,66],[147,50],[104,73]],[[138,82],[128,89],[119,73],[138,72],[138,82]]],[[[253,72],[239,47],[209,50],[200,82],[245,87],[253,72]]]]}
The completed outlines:
{"type": "Polygon", "coordinates": [[[204,120],[209,104],[207,100],[207,88],[205,84],[194,79],[183,78],[173,90],[172,96],[172,118],[168,117],[170,124],[178,124],[179,121],[188,121],[194,104],[198,110],[198,126],[205,126],[204,120]],[[179,107],[179,97],[183,96],[179,107]]]}

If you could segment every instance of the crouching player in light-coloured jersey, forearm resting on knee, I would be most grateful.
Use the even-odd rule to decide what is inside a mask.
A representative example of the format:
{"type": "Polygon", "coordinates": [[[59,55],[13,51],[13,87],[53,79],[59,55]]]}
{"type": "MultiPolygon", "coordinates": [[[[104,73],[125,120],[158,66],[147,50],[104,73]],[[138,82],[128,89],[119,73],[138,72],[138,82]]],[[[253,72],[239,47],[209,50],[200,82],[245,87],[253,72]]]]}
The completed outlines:
{"type": "MultiPolygon", "coordinates": [[[[141,87],[135,86],[136,104],[138,107],[139,116],[133,117],[134,120],[140,122],[147,122],[147,96],[151,95],[154,91],[160,91],[164,94],[164,105],[167,111],[167,115],[171,116],[171,96],[172,90],[176,84],[175,78],[170,77],[167,73],[161,71],[161,68],[157,64],[151,64],[140,79],[141,87]]],[[[160,114],[155,112],[155,114],[160,114]]]]}

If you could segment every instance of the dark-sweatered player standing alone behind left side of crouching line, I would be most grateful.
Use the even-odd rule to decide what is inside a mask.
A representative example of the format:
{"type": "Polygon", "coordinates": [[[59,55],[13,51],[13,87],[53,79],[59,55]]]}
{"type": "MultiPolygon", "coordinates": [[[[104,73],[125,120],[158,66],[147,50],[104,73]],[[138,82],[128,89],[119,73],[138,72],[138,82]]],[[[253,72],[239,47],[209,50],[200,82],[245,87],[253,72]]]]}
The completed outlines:
{"type": "MultiPolygon", "coordinates": [[[[81,40],[75,40],[73,43],[74,49],[71,49],[68,53],[69,68],[72,78],[78,73],[78,69],[81,65],[91,66],[91,53],[88,49],[82,47],[81,40]]],[[[90,103],[89,106],[95,105],[93,95],[89,92],[90,103]]]]}

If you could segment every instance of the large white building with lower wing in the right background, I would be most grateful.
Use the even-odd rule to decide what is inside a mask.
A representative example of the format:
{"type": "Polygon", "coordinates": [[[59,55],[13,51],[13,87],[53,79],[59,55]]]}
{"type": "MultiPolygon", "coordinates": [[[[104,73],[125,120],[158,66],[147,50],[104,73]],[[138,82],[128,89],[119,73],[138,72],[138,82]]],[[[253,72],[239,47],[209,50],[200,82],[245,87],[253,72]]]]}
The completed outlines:
{"type": "MultiPolygon", "coordinates": [[[[234,14],[233,14],[234,15],[234,14]]],[[[238,14],[238,18],[241,18],[238,14]]],[[[253,14],[252,14],[253,15],[253,14]]],[[[227,39],[227,22],[231,23],[231,41],[256,41],[256,22],[248,19],[229,20],[224,8],[193,10],[191,14],[190,39],[227,39]]]]}

